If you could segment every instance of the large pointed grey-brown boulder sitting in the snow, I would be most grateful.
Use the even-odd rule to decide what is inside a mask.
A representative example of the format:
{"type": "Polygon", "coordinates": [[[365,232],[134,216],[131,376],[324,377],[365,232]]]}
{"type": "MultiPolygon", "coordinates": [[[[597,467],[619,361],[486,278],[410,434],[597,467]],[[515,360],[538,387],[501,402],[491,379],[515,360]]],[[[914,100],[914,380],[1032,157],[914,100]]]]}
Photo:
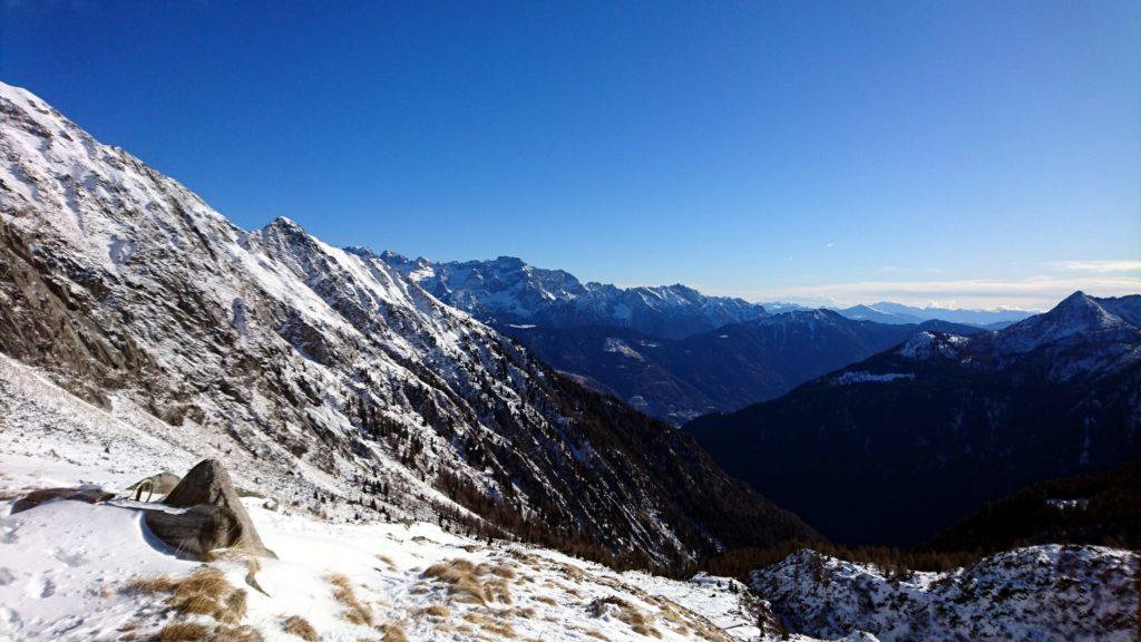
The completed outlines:
{"type": "Polygon", "coordinates": [[[261,543],[229,474],[217,459],[191,468],[162,503],[169,508],[146,511],[146,524],[179,551],[202,556],[215,548],[236,548],[276,556],[261,543]]]}

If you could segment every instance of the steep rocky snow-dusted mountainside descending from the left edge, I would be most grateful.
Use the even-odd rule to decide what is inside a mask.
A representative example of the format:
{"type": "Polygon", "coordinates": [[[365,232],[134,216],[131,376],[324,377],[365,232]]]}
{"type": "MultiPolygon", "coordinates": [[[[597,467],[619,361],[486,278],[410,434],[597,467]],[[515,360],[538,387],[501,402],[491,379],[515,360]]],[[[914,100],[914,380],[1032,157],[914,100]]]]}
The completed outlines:
{"type": "MultiPolygon", "coordinates": [[[[0,85],[0,352],[107,422],[254,463],[298,504],[631,562],[812,535],[378,257],[284,218],[241,230],[25,90],[0,85]]],[[[0,398],[30,434],[88,422],[56,403],[0,398]]]]}

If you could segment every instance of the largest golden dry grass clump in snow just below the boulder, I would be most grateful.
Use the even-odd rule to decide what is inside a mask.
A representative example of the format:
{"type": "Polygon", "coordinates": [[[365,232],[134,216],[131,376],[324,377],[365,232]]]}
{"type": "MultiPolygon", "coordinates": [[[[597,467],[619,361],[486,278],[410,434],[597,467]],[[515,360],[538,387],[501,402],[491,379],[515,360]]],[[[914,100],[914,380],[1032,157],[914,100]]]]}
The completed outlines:
{"type": "Polygon", "coordinates": [[[245,618],[245,591],[234,588],[226,580],[226,573],[213,567],[199,567],[181,579],[135,579],[128,583],[127,588],[170,593],[167,605],[181,616],[209,616],[226,624],[236,624],[245,618]]]}

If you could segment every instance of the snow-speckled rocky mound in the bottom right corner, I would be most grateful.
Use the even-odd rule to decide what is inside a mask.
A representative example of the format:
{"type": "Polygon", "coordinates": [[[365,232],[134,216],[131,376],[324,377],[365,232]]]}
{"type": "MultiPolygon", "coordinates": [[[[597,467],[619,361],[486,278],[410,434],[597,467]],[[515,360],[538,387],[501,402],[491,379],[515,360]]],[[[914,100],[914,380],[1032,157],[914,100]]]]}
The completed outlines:
{"type": "Polygon", "coordinates": [[[1020,548],[901,577],[806,549],[754,572],[753,586],[790,629],[820,637],[1130,642],[1139,572],[1136,553],[1099,546],[1020,548]]]}

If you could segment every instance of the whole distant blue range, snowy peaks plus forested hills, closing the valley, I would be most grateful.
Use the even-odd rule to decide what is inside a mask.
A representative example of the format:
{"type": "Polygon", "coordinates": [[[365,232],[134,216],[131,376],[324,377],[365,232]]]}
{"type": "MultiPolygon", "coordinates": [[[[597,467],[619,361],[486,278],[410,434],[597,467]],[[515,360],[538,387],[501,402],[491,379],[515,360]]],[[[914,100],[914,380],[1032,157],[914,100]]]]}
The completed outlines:
{"type": "Polygon", "coordinates": [[[453,263],[391,251],[379,257],[581,383],[673,423],[779,396],[920,329],[968,335],[1030,314],[893,303],[835,311],[766,304],[769,310],[680,284],[582,283],[568,272],[512,257],[453,263]]]}

